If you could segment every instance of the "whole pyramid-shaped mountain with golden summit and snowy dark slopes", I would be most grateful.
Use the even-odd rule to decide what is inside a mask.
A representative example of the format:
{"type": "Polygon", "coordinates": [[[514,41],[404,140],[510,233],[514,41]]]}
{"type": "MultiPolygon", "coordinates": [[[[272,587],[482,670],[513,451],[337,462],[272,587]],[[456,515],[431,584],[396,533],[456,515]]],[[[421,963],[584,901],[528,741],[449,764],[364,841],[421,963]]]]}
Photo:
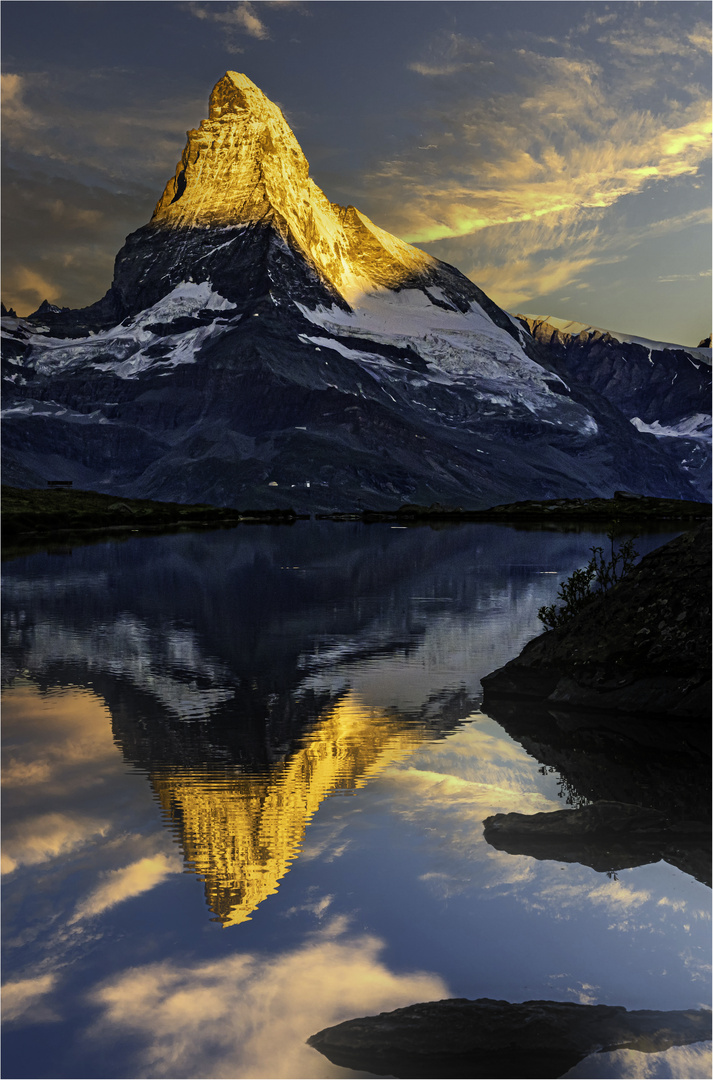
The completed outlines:
{"type": "Polygon", "coordinates": [[[656,433],[469,279],[331,203],[236,72],[106,295],[8,315],[3,340],[18,486],[302,510],[698,497],[656,433]]]}

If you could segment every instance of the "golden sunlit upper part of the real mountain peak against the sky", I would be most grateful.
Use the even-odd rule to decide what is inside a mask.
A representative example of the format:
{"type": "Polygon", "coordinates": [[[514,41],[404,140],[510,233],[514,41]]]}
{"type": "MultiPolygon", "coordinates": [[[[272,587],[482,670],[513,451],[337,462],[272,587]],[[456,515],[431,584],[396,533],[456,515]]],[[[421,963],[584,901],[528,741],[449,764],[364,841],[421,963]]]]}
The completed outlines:
{"type": "Polygon", "coordinates": [[[208,119],[188,132],[151,226],[246,225],[272,226],[347,301],[435,265],[353,206],[331,203],[278,106],[247,76],[228,71],[213,89],[208,119]]]}

